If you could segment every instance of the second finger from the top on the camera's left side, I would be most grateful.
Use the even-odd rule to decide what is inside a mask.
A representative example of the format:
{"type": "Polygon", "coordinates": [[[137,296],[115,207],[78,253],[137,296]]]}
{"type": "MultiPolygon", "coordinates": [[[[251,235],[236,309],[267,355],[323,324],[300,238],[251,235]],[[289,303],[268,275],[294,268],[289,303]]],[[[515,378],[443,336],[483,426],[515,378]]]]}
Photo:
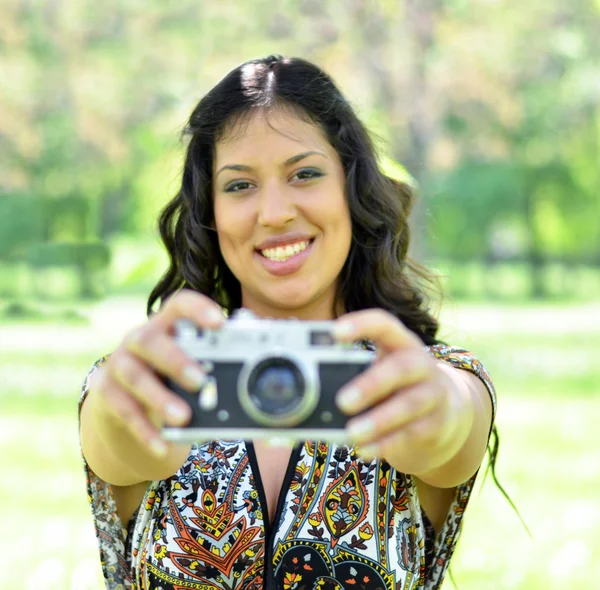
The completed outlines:
{"type": "Polygon", "coordinates": [[[129,352],[170,377],[182,387],[197,391],[206,383],[206,373],[189,358],[173,338],[151,324],[130,332],[123,341],[129,352]]]}

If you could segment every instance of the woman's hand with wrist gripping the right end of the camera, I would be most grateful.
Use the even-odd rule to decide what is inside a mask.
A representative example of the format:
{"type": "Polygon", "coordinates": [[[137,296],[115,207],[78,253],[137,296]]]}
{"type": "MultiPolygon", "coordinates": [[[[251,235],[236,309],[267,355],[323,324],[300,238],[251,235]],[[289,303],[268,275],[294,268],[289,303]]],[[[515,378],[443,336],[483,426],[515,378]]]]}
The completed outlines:
{"type": "Polygon", "coordinates": [[[336,396],[345,413],[363,412],[347,426],[357,452],[365,459],[384,457],[411,474],[449,461],[473,421],[468,392],[453,378],[456,369],[435,359],[413,332],[382,309],[340,317],[334,334],[340,342],[371,340],[377,347],[375,363],[336,396]]]}

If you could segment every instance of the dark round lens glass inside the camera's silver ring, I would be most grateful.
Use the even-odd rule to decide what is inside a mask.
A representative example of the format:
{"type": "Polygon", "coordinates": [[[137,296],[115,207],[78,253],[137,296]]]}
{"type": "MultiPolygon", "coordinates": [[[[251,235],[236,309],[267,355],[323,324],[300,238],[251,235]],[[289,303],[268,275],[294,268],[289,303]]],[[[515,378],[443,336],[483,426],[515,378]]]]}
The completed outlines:
{"type": "Polygon", "coordinates": [[[306,394],[306,382],[291,360],[269,358],[258,363],[250,373],[248,394],[261,413],[275,419],[293,419],[306,394]]]}

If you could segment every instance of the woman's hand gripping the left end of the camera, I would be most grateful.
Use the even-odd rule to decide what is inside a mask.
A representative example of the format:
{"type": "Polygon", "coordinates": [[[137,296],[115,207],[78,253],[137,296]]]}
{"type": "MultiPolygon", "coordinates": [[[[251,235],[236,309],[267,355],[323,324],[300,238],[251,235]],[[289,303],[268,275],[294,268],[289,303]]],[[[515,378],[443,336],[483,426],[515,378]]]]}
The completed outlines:
{"type": "Polygon", "coordinates": [[[225,320],[220,307],[208,297],[179,291],[144,325],[125,336],[89,384],[88,395],[96,397],[102,414],[129,429],[159,457],[168,449],[160,429],[185,425],[191,408],[158,374],[192,392],[205,381],[198,364],[175,342],[174,326],[179,319],[209,329],[220,327],[225,320]]]}

